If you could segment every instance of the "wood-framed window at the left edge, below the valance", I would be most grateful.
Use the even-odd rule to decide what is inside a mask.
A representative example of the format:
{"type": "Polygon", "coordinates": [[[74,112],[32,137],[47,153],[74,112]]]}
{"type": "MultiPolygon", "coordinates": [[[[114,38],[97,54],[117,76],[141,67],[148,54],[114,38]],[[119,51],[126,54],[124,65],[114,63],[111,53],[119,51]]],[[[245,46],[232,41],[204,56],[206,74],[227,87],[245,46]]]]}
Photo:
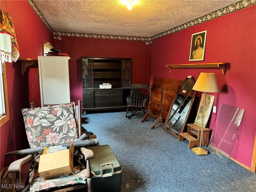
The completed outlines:
{"type": "Polygon", "coordinates": [[[5,63],[0,64],[0,125],[6,123],[9,118],[8,108],[8,95],[7,95],[7,83],[6,83],[6,68],[5,63]]]}

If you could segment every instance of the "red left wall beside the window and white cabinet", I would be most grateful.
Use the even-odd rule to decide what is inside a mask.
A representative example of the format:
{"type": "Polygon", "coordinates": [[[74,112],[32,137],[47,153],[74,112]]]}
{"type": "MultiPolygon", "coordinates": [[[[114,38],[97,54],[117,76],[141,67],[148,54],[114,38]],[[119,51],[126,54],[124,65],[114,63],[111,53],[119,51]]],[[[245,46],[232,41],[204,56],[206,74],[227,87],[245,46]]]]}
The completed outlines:
{"type": "MultiPolygon", "coordinates": [[[[53,42],[50,30],[26,1],[1,0],[0,7],[12,16],[20,58],[37,59],[38,55],[43,54],[43,43],[53,42]]],[[[28,148],[21,109],[29,107],[31,92],[39,92],[38,68],[27,69],[22,76],[21,61],[6,63],[6,75],[10,120],[0,127],[1,168],[16,159],[15,156],[5,158],[6,152],[28,148]],[[37,74],[37,78],[33,74],[37,74]]]]}

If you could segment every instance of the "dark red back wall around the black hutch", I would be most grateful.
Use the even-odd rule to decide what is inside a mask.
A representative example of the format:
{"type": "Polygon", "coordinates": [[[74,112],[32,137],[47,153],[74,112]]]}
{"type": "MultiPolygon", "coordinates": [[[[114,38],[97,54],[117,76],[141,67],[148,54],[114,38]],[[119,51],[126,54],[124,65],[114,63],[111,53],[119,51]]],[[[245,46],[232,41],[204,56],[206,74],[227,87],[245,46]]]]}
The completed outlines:
{"type": "Polygon", "coordinates": [[[148,83],[149,45],[142,41],[62,37],[54,40],[70,56],[70,99],[82,99],[81,56],[132,58],[132,83],[148,83]]]}

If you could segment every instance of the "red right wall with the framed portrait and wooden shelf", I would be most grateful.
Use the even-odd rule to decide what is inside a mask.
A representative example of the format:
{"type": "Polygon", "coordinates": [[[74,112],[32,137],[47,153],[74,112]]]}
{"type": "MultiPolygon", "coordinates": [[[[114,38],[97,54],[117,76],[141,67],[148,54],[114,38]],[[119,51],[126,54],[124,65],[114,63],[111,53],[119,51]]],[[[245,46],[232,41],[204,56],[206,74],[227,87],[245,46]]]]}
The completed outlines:
{"type": "MultiPolygon", "coordinates": [[[[217,112],[222,103],[245,109],[231,157],[251,166],[256,132],[256,5],[153,40],[150,44],[150,82],[154,76],[184,80],[200,72],[216,74],[220,93],[215,96],[217,112]],[[191,35],[207,30],[204,61],[189,62],[191,35]],[[229,62],[226,75],[220,69],[172,69],[166,65],[229,62]]],[[[200,94],[198,94],[200,97],[200,94]]],[[[218,114],[218,113],[217,113],[218,114]]],[[[212,114],[214,128],[217,114],[212,114]]]]}

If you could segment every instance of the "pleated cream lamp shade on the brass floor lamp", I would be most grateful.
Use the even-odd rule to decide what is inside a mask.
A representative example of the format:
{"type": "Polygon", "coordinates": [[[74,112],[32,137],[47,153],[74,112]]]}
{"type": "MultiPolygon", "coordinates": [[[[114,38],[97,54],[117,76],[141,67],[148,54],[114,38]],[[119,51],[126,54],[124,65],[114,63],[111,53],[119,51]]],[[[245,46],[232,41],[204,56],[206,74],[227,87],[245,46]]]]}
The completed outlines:
{"type": "Polygon", "coordinates": [[[208,93],[220,92],[215,73],[200,73],[192,89],[208,93]]]}

